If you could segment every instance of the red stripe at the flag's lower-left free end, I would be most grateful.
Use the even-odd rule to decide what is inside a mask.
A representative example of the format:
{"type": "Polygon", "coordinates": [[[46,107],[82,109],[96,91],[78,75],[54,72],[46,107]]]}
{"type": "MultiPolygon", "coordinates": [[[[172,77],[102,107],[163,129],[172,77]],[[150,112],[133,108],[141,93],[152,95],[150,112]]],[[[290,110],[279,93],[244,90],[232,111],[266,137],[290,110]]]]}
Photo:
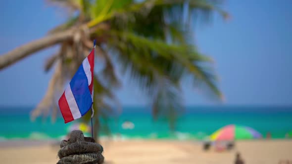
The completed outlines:
{"type": "Polygon", "coordinates": [[[65,123],[69,123],[74,120],[72,113],[70,111],[68,102],[65,97],[65,92],[62,94],[61,98],[59,99],[59,107],[64,118],[65,123]]]}

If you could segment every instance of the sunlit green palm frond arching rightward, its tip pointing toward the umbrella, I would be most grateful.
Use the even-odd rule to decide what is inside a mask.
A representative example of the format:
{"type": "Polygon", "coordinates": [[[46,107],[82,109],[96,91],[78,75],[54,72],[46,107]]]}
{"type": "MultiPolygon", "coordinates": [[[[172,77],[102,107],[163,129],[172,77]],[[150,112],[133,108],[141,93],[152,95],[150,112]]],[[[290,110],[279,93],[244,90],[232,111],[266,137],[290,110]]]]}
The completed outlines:
{"type": "MultiPolygon", "coordinates": [[[[203,67],[198,66],[203,62],[210,62],[212,60],[200,55],[195,51],[194,47],[190,45],[167,44],[163,41],[150,40],[127,32],[114,32],[114,36],[119,36],[120,41],[114,43],[116,41],[114,40],[112,43],[120,51],[124,51],[123,55],[128,56],[127,60],[139,62],[139,66],[145,69],[150,70],[152,67],[160,74],[165,74],[170,68],[170,63],[175,60],[184,68],[187,68],[198,80],[205,82],[214,91],[216,90],[217,93],[213,82],[213,80],[216,80],[215,76],[211,73],[207,75],[203,71],[203,67]],[[150,63],[153,64],[151,65],[150,63]],[[161,68],[163,66],[164,68],[161,68]]],[[[179,65],[178,63],[176,65],[179,65]]]]}

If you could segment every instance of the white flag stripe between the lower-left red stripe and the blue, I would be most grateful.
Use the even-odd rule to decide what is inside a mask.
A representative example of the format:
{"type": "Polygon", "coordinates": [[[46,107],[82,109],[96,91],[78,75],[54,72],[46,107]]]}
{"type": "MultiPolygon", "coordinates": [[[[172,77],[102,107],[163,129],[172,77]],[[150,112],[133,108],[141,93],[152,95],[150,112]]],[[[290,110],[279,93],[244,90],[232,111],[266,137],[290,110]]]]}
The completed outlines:
{"type": "Polygon", "coordinates": [[[81,113],[79,111],[78,105],[77,105],[76,100],[74,98],[74,95],[72,93],[70,84],[65,89],[65,97],[66,97],[66,100],[68,102],[68,105],[69,105],[69,108],[70,108],[70,111],[72,113],[74,120],[81,118],[81,113]]]}

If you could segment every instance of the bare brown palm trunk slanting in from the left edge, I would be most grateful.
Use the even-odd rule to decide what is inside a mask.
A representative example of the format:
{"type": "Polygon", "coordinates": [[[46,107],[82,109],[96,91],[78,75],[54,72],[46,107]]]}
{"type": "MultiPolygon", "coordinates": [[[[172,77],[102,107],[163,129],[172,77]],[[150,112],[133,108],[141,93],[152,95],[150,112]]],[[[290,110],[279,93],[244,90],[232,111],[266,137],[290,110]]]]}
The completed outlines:
{"type": "Polygon", "coordinates": [[[29,42],[17,47],[5,54],[0,55],[0,70],[16,63],[17,61],[27,57],[39,50],[53,46],[61,41],[68,40],[73,37],[72,30],[51,34],[42,39],[29,42]]]}

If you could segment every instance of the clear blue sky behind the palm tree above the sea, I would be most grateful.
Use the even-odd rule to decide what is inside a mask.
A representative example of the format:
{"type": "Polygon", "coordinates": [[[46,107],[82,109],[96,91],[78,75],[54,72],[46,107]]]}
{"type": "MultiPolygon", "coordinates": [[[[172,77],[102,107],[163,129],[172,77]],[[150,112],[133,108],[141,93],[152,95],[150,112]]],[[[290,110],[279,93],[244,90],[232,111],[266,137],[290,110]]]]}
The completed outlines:
{"type": "MultiPolygon", "coordinates": [[[[215,15],[198,24],[195,43],[216,61],[226,105],[292,105],[292,1],[226,0],[228,21],[215,15]]],[[[66,16],[45,0],[6,0],[0,5],[0,54],[45,36],[66,16]]],[[[44,73],[51,48],[0,71],[0,105],[34,106],[52,75],[44,73]]],[[[123,78],[117,96],[123,105],[146,104],[146,97],[123,78]]],[[[188,82],[187,105],[216,105],[188,82]]]]}

